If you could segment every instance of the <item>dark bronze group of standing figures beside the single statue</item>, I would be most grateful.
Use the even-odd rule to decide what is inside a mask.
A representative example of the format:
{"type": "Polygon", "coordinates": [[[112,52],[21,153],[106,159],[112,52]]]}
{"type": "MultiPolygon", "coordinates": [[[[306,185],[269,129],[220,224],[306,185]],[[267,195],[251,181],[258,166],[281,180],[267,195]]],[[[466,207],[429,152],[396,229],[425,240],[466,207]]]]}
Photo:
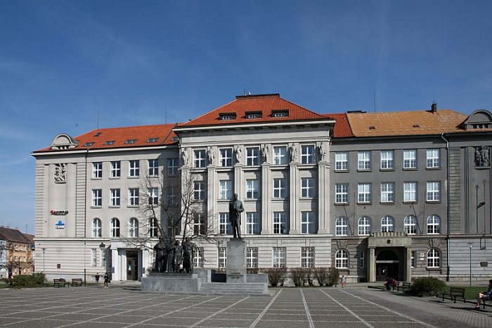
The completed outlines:
{"type": "Polygon", "coordinates": [[[155,253],[155,272],[180,272],[181,263],[186,273],[193,273],[193,251],[195,245],[190,242],[188,237],[179,244],[177,240],[170,240],[166,243],[160,237],[159,242],[154,246],[155,253]]]}

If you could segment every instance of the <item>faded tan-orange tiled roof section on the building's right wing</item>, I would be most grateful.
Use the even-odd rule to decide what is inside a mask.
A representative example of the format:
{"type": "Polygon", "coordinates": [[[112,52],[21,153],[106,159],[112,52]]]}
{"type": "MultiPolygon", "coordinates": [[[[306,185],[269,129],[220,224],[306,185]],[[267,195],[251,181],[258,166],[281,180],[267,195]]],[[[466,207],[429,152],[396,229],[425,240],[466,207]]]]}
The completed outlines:
{"type": "MultiPolygon", "coordinates": [[[[382,137],[463,132],[459,125],[467,115],[439,109],[387,113],[347,113],[355,137],[382,137]]],[[[336,126],[336,125],[335,125],[336,126]]]]}

